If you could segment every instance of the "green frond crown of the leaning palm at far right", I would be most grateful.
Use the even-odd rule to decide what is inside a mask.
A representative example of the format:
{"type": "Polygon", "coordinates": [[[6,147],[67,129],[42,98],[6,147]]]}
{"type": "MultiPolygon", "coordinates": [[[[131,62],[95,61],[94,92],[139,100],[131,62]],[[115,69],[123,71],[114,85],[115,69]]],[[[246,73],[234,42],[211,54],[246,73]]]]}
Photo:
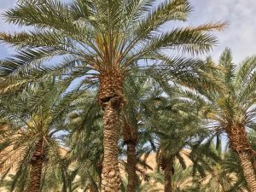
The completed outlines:
{"type": "Polygon", "coordinates": [[[204,74],[205,77],[214,77],[218,89],[197,87],[197,91],[183,91],[183,94],[202,107],[200,115],[208,120],[211,128],[228,132],[234,125],[253,128],[256,113],[255,57],[249,57],[236,66],[232,63],[230,49],[225,49],[218,64],[207,60],[207,65],[215,66],[213,70],[208,67],[204,74]]]}

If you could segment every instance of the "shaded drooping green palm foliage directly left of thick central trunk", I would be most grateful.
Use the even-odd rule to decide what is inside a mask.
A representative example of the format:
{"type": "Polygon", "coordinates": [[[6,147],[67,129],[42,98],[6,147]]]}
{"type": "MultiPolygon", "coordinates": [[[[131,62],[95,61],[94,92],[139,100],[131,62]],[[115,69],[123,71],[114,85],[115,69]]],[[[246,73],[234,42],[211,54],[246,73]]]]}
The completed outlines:
{"type": "Polygon", "coordinates": [[[66,125],[67,146],[71,148],[68,158],[73,162],[70,180],[73,190],[97,192],[102,182],[102,112],[96,103],[96,92],[83,92],[71,103],[66,125]]]}

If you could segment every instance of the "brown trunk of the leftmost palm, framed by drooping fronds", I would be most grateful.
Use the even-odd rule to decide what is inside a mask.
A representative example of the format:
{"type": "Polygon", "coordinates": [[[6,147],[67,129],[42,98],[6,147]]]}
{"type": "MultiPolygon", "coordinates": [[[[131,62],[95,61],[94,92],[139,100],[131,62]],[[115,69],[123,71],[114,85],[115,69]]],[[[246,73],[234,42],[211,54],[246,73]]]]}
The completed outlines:
{"type": "Polygon", "coordinates": [[[29,179],[26,192],[40,191],[43,164],[44,164],[44,140],[41,139],[38,142],[36,146],[36,150],[32,156],[30,179],[29,179]]]}

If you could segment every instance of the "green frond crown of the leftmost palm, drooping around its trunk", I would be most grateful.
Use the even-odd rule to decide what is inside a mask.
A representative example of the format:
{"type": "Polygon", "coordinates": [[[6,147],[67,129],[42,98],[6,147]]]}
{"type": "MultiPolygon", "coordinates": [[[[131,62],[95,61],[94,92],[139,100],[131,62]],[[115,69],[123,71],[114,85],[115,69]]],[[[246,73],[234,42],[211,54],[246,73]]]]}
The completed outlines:
{"type": "Polygon", "coordinates": [[[57,185],[60,185],[60,188],[62,185],[63,189],[70,188],[67,166],[60,151],[61,137],[56,137],[57,132],[65,130],[64,123],[71,110],[69,105],[81,95],[78,91],[80,87],[77,88],[78,90],[66,92],[69,85],[69,82],[58,78],[44,79],[43,82],[32,84],[30,90],[24,90],[19,96],[11,98],[13,103],[11,106],[9,106],[10,98],[2,97],[1,121],[8,125],[8,131],[5,132],[7,134],[5,138],[1,140],[1,154],[6,150],[10,152],[9,157],[0,158],[0,163],[8,172],[9,167],[16,167],[11,189],[19,189],[20,183],[23,183],[23,189],[26,188],[32,155],[42,136],[47,143],[44,179],[52,178],[50,182],[45,180],[47,184],[42,178],[42,186],[44,185],[42,190],[51,191],[57,188],[57,185]],[[15,158],[15,154],[19,158],[15,158]],[[59,176],[55,175],[56,173],[59,176]]]}

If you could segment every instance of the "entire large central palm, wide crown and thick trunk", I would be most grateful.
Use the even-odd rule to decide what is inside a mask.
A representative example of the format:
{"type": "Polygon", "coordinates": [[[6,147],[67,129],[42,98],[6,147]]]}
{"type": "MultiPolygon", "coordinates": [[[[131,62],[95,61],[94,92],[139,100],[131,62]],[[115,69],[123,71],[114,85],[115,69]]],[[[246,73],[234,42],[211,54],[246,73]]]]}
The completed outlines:
{"type": "MultiPolygon", "coordinates": [[[[209,31],[224,26],[217,23],[158,32],[168,21],[186,20],[191,6],[188,0],[156,2],[21,0],[4,14],[9,23],[32,26],[33,30],[1,34],[1,40],[19,48],[17,55],[1,63],[2,92],[44,74],[65,73],[90,83],[99,80],[97,97],[104,127],[102,191],[119,191],[119,113],[125,105],[123,82],[135,63],[179,63],[161,57],[162,49],[205,53],[217,43],[209,31]],[[45,61],[52,57],[63,61],[49,66],[45,61]]],[[[154,70],[162,70],[157,66],[154,70]]]]}

